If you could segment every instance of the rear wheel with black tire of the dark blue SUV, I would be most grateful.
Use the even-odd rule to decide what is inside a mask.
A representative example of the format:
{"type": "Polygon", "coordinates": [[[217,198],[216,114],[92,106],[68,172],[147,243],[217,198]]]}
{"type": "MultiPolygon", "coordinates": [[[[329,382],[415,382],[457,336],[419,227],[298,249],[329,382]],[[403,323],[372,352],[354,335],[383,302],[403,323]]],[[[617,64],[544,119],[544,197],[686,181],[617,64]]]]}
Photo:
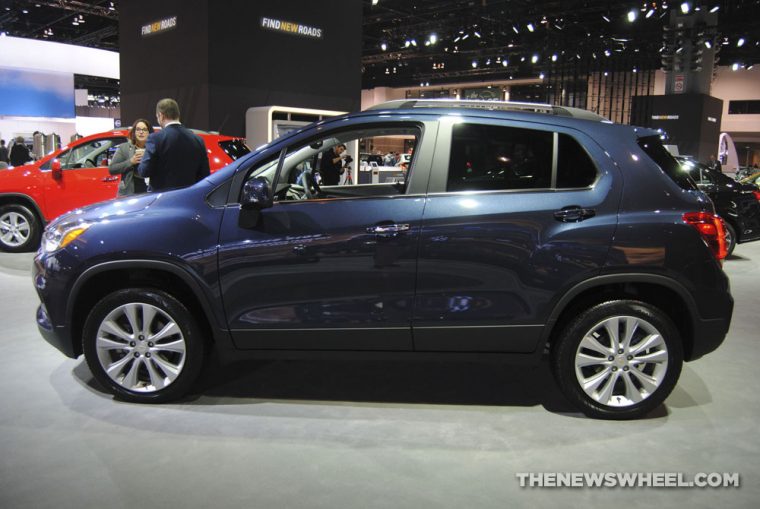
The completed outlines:
{"type": "Polygon", "coordinates": [[[552,371],[560,390],[584,414],[600,419],[636,419],[650,413],[673,390],[682,365],[683,345],[673,322],[656,307],[634,300],[587,309],[552,348],[552,371]],[[625,339],[629,327],[633,334],[628,345],[623,341],[622,348],[613,350],[609,330],[616,329],[618,338],[625,339]],[[644,338],[650,347],[639,351],[644,338]]]}

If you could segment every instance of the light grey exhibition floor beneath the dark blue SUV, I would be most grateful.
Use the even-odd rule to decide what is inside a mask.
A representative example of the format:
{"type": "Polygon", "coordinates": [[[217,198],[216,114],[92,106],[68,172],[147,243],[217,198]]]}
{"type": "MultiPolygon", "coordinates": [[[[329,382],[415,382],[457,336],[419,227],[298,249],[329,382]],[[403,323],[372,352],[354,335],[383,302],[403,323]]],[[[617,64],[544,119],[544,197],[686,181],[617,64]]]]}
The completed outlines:
{"type": "Polygon", "coordinates": [[[726,342],[647,419],[572,413],[545,366],[272,361],[182,404],[120,403],[37,332],[32,254],[0,254],[0,507],[756,507],[760,242],[725,264],[726,342]],[[736,472],[725,488],[520,487],[540,472],[736,472]]]}

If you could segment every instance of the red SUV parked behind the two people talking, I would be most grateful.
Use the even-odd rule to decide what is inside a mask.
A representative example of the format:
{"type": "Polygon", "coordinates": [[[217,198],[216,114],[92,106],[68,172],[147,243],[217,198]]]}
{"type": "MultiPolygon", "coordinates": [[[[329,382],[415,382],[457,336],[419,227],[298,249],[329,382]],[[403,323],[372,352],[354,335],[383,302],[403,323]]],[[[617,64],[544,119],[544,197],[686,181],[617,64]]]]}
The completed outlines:
{"type": "MultiPolygon", "coordinates": [[[[241,138],[195,131],[206,144],[211,172],[250,152],[241,138]]],[[[39,161],[0,171],[0,249],[29,251],[42,227],[69,210],[116,197],[119,176],[108,173],[129,129],[93,134],[39,161]],[[60,162],[53,164],[53,161],[60,162]]]]}

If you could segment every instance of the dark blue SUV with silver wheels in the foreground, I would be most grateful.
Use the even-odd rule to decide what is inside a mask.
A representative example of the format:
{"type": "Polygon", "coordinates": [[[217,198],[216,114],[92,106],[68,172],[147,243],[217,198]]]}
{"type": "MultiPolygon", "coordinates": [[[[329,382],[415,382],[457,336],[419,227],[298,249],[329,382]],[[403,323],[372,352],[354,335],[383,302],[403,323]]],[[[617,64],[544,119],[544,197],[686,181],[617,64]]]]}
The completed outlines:
{"type": "Polygon", "coordinates": [[[580,410],[627,419],[726,336],[724,235],[657,132],[546,105],[399,101],[192,187],[58,218],[35,259],[37,322],[133,402],[185,394],[212,347],[548,353],[580,410]],[[410,162],[359,161],[387,152],[410,162]]]}

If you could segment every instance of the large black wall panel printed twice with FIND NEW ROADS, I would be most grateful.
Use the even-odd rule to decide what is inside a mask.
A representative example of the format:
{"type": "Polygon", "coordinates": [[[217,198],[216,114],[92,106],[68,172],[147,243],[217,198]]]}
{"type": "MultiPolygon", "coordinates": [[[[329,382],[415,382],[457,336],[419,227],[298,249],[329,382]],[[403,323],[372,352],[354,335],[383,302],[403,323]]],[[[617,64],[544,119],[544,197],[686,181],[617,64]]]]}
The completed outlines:
{"type": "Polygon", "coordinates": [[[130,0],[120,5],[122,123],[178,100],[189,127],[245,134],[253,106],[354,111],[361,101],[361,2],[130,0]],[[176,26],[141,28],[176,16],[176,26]],[[262,18],[321,37],[263,28],[262,18]]]}

